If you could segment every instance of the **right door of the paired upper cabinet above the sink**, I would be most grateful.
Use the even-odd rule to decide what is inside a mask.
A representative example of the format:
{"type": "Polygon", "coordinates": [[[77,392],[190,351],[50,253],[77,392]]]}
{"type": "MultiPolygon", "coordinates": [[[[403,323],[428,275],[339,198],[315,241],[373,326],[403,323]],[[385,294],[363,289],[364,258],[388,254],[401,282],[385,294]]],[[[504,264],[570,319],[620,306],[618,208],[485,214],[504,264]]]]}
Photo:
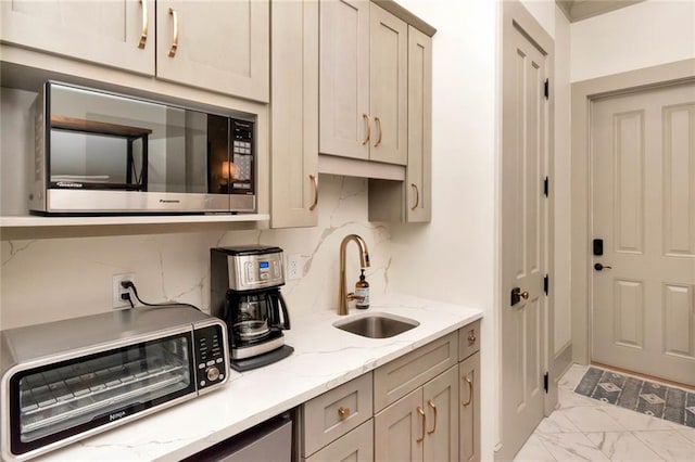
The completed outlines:
{"type": "Polygon", "coordinates": [[[408,26],[370,4],[369,115],[371,161],[407,163],[408,26]]]}

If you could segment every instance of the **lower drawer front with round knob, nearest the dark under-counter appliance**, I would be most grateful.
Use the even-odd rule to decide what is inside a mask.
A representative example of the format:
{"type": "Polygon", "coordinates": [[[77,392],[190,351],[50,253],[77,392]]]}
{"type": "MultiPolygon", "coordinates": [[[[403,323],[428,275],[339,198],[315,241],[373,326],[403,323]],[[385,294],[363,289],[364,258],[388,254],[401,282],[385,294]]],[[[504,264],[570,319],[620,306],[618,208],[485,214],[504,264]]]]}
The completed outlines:
{"type": "Polygon", "coordinates": [[[303,455],[311,455],[374,414],[371,372],[304,403],[303,455]]]}

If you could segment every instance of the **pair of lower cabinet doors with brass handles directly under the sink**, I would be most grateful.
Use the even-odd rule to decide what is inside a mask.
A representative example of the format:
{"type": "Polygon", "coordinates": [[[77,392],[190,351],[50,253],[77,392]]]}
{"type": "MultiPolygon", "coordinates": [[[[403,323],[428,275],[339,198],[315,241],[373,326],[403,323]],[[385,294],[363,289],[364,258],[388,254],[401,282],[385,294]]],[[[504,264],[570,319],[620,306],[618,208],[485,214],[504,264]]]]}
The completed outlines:
{"type": "Polygon", "coordinates": [[[458,368],[448,369],[375,416],[375,459],[458,460],[458,368]]]}

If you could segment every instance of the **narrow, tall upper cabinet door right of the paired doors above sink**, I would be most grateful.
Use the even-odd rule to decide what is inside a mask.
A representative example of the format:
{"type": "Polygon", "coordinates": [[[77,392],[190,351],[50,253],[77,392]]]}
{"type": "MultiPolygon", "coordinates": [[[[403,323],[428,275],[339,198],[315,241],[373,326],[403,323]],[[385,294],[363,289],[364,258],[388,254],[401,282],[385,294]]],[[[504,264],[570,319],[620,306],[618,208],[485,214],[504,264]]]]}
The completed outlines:
{"type": "Polygon", "coordinates": [[[432,217],[432,39],[408,26],[406,221],[432,217]]]}

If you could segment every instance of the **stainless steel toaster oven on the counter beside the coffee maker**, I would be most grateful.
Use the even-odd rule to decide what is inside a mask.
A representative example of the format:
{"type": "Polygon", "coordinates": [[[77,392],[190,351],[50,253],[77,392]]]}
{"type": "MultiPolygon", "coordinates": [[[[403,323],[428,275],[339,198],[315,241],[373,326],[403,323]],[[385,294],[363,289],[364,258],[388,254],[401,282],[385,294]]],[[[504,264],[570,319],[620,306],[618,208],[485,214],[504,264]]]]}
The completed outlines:
{"type": "Polygon", "coordinates": [[[222,387],[225,323],[134,308],[0,332],[2,460],[26,460],[222,387]]]}

